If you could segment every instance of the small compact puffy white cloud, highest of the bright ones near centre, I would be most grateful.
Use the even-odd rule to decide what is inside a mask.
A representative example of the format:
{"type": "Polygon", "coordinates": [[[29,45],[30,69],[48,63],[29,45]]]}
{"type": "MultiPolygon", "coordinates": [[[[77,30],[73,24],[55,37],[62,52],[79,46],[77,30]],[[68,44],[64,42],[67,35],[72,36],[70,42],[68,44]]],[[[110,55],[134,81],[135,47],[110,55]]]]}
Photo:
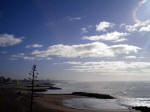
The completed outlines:
{"type": "Polygon", "coordinates": [[[108,28],[112,28],[113,26],[113,23],[103,21],[96,25],[96,31],[106,31],[108,28]]]}

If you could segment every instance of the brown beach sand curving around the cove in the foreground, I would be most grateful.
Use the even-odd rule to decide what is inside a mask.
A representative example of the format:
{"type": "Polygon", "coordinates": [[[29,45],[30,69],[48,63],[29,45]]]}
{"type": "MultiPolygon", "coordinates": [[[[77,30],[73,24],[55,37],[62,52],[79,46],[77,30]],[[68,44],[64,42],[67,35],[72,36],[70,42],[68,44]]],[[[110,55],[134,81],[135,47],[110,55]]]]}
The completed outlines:
{"type": "Polygon", "coordinates": [[[41,94],[39,97],[35,97],[35,101],[39,103],[44,108],[52,110],[54,112],[129,112],[129,110],[80,110],[80,109],[73,109],[70,107],[66,107],[63,105],[64,99],[69,98],[85,98],[84,96],[76,96],[76,95],[69,95],[69,94],[41,94]]]}

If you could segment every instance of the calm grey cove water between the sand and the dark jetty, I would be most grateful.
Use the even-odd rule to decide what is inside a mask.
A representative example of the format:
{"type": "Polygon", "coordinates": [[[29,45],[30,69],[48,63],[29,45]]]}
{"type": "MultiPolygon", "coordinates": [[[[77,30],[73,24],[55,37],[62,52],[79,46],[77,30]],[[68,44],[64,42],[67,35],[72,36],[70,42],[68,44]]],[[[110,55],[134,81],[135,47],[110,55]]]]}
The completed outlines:
{"type": "Polygon", "coordinates": [[[127,110],[117,103],[117,99],[72,98],[63,101],[65,106],[88,110],[127,110]]]}

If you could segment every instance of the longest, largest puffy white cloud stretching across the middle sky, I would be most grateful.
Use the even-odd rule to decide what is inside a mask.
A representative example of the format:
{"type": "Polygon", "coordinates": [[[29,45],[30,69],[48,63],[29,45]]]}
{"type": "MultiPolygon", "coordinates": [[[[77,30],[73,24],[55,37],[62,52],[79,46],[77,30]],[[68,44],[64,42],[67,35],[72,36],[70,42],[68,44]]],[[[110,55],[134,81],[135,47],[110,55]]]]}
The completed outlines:
{"type": "Polygon", "coordinates": [[[101,58],[101,57],[115,57],[120,54],[137,53],[139,47],[120,44],[108,46],[102,42],[93,42],[79,45],[63,45],[57,44],[48,47],[47,50],[34,50],[32,55],[36,57],[46,58],[49,56],[58,56],[65,58],[101,58]]]}

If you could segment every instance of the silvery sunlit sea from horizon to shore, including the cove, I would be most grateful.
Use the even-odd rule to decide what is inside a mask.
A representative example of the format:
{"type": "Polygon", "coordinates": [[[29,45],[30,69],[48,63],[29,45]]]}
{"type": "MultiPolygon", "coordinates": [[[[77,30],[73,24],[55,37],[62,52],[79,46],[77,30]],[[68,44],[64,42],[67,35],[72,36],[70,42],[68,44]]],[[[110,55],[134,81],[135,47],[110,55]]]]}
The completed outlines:
{"type": "MultiPolygon", "coordinates": [[[[104,94],[110,94],[117,98],[117,101],[109,100],[109,102],[105,102],[106,100],[100,100],[98,99],[86,99],[86,101],[92,102],[93,106],[99,102],[98,106],[91,107],[92,103],[88,104],[86,103],[85,99],[70,99],[65,100],[64,104],[67,106],[71,106],[73,108],[89,108],[89,109],[97,109],[98,107],[104,107],[102,104],[108,103],[109,107],[112,104],[120,105],[120,107],[117,107],[117,105],[111,106],[111,108],[122,108],[122,106],[147,106],[150,107],[150,82],[61,82],[56,83],[57,87],[61,87],[62,90],[49,90],[45,94],[63,94],[63,93],[72,93],[77,91],[82,92],[90,92],[90,93],[104,93],[104,94]],[[76,102],[80,102],[77,103],[76,102]],[[100,103],[101,102],[101,103],[100,103]],[[89,105],[89,106],[87,106],[89,105]]],[[[106,108],[109,108],[106,107],[106,108]]]]}

